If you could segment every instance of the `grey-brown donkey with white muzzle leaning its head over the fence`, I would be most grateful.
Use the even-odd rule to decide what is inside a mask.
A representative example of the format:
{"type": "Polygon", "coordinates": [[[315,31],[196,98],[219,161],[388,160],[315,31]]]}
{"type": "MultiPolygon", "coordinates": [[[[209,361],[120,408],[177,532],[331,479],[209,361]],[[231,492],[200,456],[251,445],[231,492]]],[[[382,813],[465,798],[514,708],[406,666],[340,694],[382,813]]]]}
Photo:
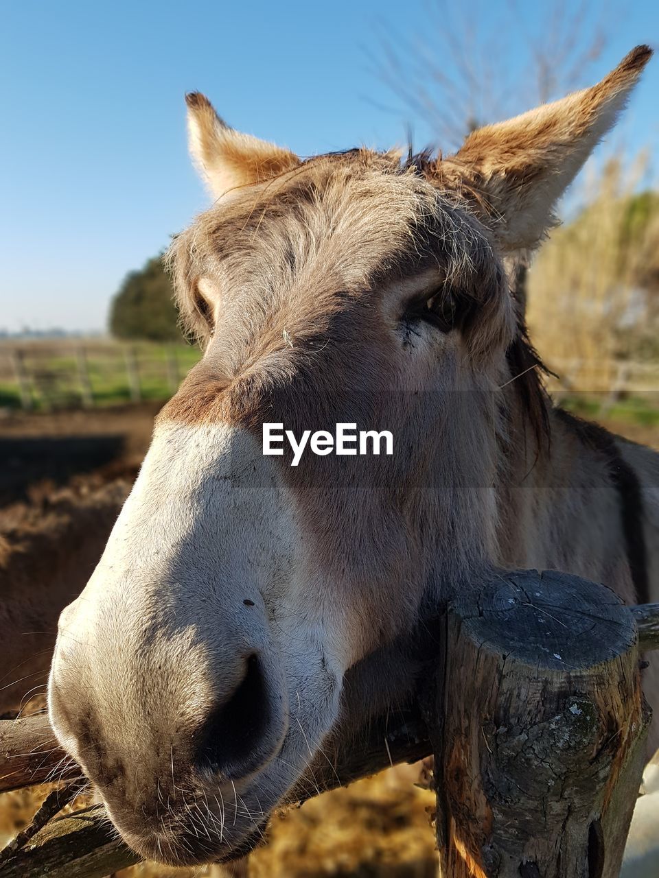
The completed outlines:
{"type": "Polygon", "coordinates": [[[49,681],[57,737],[142,856],[249,850],[349,669],[493,566],[656,600],[659,456],[552,406],[504,270],[650,54],[445,158],[302,161],[187,96],[215,200],[170,259],[205,354],[62,612],[49,681]],[[291,466],[262,453],[274,422],[387,428],[394,454],[291,466]]]}

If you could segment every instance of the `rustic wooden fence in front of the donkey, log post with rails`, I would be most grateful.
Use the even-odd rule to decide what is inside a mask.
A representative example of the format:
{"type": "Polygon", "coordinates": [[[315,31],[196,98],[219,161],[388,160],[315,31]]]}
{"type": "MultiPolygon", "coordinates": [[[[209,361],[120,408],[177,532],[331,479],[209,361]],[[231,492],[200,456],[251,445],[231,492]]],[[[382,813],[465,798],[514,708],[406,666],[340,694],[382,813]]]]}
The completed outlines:
{"type": "MultiPolygon", "coordinates": [[[[656,648],[659,605],[627,608],[560,572],[495,572],[351,669],[316,784],[433,754],[443,875],[615,878],[646,757],[643,652],[656,648]],[[390,711],[396,677],[407,696],[390,711]],[[373,680],[384,700],[365,716],[373,680]]],[[[0,789],[45,781],[62,755],[45,718],[0,723],[0,789]]],[[[101,878],[136,860],[97,806],[49,821],[0,875],[101,878]]]]}

